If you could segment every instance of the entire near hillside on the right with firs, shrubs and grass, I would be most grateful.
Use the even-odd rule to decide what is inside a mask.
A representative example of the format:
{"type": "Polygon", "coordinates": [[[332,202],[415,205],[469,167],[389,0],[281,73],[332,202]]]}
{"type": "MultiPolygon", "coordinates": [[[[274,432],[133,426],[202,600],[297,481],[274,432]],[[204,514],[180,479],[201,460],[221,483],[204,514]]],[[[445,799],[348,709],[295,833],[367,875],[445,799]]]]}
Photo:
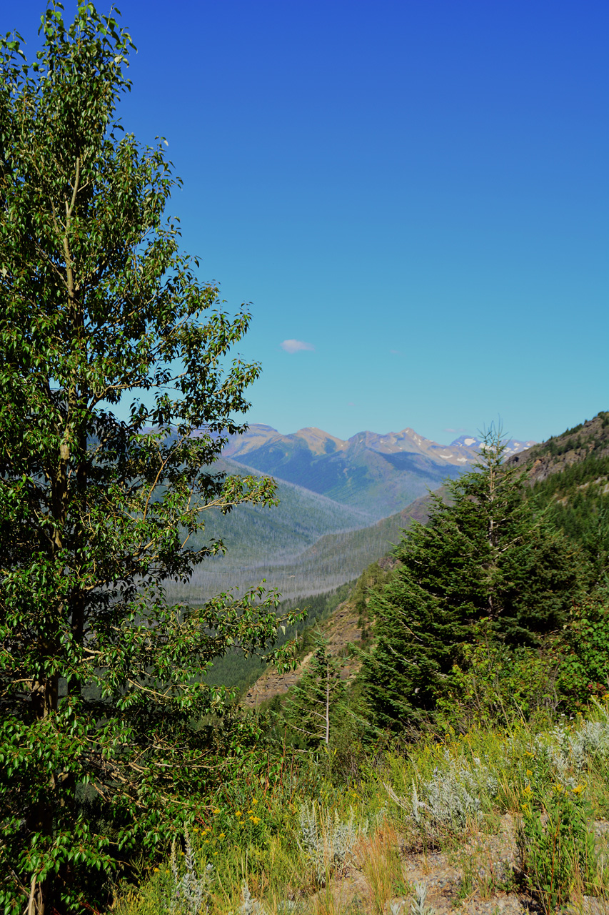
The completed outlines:
{"type": "Polygon", "coordinates": [[[296,630],[296,675],[233,709],[208,801],[112,910],[606,910],[609,588],[589,544],[606,415],[543,479],[577,449],[504,467],[496,441],[296,630]]]}

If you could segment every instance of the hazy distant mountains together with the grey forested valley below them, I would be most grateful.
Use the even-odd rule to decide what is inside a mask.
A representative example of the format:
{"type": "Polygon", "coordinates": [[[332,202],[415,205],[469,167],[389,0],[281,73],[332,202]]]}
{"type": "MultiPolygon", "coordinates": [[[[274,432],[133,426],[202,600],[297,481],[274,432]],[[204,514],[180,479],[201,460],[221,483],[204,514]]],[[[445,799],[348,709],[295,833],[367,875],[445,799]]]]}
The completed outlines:
{"type": "MultiPolygon", "coordinates": [[[[195,569],[187,586],[167,589],[197,603],[263,578],[284,598],[351,581],[398,543],[412,518],[424,518],[428,490],[471,467],[481,444],[461,436],[438,445],[411,428],[360,432],[343,441],[316,428],[282,435],[270,425],[251,425],[230,439],[214,469],[272,475],[279,506],[208,511],[205,531],[189,544],[221,537],[227,553],[195,569]]],[[[508,449],[515,454],[531,444],[512,441],[508,449]]]]}

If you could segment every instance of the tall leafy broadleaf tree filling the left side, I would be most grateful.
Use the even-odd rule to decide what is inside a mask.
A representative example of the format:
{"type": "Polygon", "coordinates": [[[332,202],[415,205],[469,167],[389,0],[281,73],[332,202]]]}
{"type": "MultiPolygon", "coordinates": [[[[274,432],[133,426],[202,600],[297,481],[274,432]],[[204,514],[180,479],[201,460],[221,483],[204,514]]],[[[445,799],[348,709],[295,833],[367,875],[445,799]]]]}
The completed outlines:
{"type": "Polygon", "coordinates": [[[181,253],[163,145],[122,133],[129,35],[84,3],[41,28],[31,64],[0,43],[0,903],[28,915],[81,910],[205,800],[205,670],[279,622],[262,590],[166,600],[222,549],[189,546],[204,510],[273,499],[212,467],[260,371],[230,356],[250,315],[181,253]]]}

